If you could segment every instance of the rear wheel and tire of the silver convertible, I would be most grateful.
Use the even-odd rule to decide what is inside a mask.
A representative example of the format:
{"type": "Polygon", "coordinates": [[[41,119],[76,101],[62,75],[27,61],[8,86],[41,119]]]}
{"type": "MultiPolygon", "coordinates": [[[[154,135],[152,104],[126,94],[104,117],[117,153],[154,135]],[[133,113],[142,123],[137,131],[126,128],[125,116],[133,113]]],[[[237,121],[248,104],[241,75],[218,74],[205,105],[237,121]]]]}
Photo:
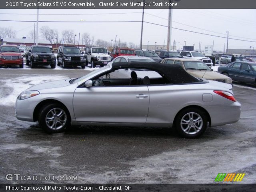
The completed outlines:
{"type": "Polygon", "coordinates": [[[197,138],[207,128],[206,114],[197,108],[186,108],[182,110],[175,120],[175,126],[180,136],[184,138],[197,138]]]}

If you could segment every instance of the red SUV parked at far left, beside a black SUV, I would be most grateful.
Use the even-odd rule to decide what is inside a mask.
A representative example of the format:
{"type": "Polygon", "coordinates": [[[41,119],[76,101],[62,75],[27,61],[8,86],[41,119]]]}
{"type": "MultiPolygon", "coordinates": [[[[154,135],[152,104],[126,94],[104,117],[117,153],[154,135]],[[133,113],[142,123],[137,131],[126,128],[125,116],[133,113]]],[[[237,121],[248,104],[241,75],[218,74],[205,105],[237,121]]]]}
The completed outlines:
{"type": "Polygon", "coordinates": [[[18,65],[23,68],[22,51],[16,45],[0,46],[0,67],[18,65]]]}

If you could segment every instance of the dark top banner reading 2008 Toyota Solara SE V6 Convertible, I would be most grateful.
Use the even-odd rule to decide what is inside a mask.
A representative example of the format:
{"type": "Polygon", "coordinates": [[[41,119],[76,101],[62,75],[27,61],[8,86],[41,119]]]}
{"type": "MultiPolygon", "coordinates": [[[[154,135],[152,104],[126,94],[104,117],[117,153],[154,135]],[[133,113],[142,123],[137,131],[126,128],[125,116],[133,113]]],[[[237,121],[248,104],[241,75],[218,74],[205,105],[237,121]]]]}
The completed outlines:
{"type": "Polygon", "coordinates": [[[0,9],[255,9],[255,0],[1,0],[0,9]]]}

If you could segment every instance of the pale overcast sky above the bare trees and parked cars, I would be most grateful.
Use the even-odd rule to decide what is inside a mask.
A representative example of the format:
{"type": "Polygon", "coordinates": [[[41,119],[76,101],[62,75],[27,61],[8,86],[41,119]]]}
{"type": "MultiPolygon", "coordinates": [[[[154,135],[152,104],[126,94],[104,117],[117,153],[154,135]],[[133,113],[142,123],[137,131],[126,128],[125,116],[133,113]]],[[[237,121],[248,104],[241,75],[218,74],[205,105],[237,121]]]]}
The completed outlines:
{"type": "MultiPolygon", "coordinates": [[[[0,9],[2,20],[36,20],[36,9],[0,9]],[[3,14],[12,13],[12,14],[3,14]],[[21,15],[31,14],[31,15],[21,15]]],[[[52,21],[140,21],[142,9],[40,9],[39,20],[52,21]],[[103,14],[106,13],[106,14],[103,14]],[[122,13],[122,14],[119,14],[122,13]],[[60,15],[49,15],[60,14],[60,15]],[[67,14],[91,14],[91,15],[67,15],[67,14]]],[[[145,9],[144,21],[168,26],[168,9],[145,9]],[[154,16],[152,16],[154,15],[154,16]]],[[[191,30],[216,36],[250,40],[229,40],[228,48],[256,49],[256,10],[255,9],[174,9],[172,27],[191,30]],[[178,22],[178,23],[177,23],[178,22]],[[200,29],[199,29],[200,28],[200,29]],[[212,32],[211,32],[212,31],[212,32]]],[[[34,30],[33,22],[5,22],[0,21],[1,26],[11,26],[17,31],[17,38],[27,36],[30,30],[34,30]]],[[[62,30],[72,29],[75,34],[88,32],[95,40],[103,39],[111,41],[117,35],[122,42],[140,44],[141,22],[129,23],[39,23],[39,28],[49,26],[58,29],[59,36],[62,30]]],[[[157,45],[167,44],[167,27],[144,23],[142,44],[157,45]]],[[[227,39],[214,36],[196,34],[182,30],[172,29],[172,42],[178,42],[177,48],[192,46],[198,50],[199,42],[204,46],[214,41],[214,50],[223,51],[227,39]]]]}

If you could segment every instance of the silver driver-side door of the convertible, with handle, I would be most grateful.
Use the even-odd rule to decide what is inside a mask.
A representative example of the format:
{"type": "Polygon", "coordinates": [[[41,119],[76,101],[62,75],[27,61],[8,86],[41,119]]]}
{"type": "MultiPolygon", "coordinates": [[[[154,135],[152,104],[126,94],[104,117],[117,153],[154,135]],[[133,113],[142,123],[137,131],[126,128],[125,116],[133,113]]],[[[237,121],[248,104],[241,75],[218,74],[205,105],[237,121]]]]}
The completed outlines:
{"type": "Polygon", "coordinates": [[[148,87],[126,85],[76,88],[73,107],[78,122],[144,124],[149,107],[148,87]]]}

